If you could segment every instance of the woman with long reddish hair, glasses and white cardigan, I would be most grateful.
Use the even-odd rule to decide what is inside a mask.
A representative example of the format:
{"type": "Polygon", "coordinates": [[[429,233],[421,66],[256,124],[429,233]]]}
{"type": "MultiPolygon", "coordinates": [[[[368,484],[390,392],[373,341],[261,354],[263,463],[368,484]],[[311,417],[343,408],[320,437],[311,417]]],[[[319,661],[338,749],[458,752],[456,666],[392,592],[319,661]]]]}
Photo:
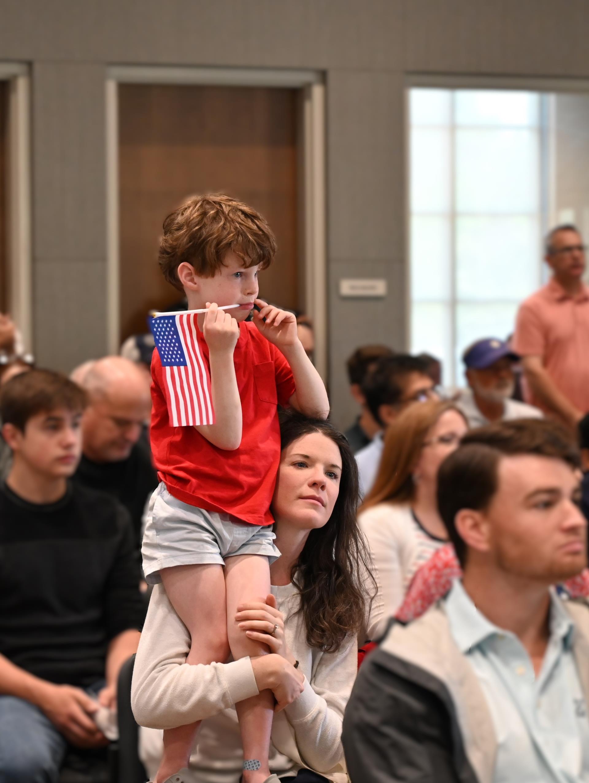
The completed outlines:
{"type": "Polygon", "coordinates": [[[387,430],[381,467],[358,517],[387,618],[417,569],[448,540],[435,496],[438,468],[467,430],[452,402],[433,400],[410,406],[387,430]]]}

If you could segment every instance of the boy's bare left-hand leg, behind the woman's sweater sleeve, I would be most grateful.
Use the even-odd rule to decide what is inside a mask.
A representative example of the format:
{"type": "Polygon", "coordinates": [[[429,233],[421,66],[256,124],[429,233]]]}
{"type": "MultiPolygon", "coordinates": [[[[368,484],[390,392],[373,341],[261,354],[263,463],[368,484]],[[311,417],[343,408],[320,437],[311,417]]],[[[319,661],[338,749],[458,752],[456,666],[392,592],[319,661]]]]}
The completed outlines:
{"type": "MultiPolygon", "coordinates": [[[[186,663],[224,663],[229,657],[225,579],[222,565],[176,565],[162,568],[161,581],[192,643],[186,663]]],[[[164,756],[157,783],[188,767],[201,722],[164,730],[164,756]]]]}

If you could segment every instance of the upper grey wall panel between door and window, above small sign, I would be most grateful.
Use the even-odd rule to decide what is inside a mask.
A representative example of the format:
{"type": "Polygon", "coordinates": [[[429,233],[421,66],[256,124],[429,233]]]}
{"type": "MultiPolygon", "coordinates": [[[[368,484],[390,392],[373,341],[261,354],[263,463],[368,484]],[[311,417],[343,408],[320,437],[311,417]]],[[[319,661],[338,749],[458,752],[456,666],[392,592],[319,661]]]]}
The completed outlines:
{"type": "Polygon", "coordinates": [[[399,74],[328,74],[331,258],[389,258],[403,252],[403,127],[399,74]]]}

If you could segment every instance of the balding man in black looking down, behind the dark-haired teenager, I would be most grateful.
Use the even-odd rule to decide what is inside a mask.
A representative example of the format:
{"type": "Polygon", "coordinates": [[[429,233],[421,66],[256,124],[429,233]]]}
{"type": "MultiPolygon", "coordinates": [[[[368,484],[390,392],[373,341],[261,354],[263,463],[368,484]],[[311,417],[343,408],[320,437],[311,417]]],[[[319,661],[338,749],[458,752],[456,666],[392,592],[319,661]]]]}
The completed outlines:
{"type": "Polygon", "coordinates": [[[140,547],[143,509],[157,487],[145,429],[151,410],[150,379],[121,356],[85,363],[72,377],[89,396],[74,481],[119,500],[131,515],[140,547]]]}

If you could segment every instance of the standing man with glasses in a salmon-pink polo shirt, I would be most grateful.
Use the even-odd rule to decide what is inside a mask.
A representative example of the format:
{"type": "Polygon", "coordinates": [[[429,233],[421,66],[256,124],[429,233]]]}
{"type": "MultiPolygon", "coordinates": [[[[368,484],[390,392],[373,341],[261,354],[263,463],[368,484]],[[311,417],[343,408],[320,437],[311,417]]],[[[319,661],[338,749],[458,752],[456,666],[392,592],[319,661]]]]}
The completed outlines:
{"type": "Polygon", "coordinates": [[[551,280],[521,305],[512,346],[523,359],[526,402],[576,428],[589,412],[589,286],[575,226],[551,230],[545,258],[551,280]]]}

